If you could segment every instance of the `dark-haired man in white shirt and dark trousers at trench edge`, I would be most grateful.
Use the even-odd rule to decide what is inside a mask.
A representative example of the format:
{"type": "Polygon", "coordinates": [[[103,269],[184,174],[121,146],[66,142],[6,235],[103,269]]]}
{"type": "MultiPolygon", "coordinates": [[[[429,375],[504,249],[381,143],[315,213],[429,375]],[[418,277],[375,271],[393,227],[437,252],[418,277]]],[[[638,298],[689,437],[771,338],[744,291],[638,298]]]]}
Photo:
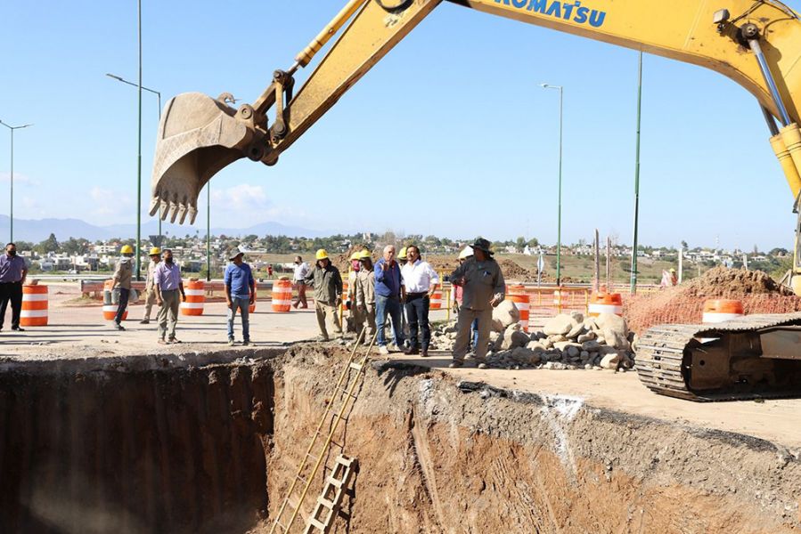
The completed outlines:
{"type": "Polygon", "coordinates": [[[406,247],[407,263],[401,269],[406,289],[406,320],[409,321],[409,351],[407,354],[429,355],[431,327],[429,325],[429,304],[431,295],[439,286],[437,272],[428,262],[420,259],[420,248],[416,245],[406,247]],[[418,344],[418,329],[422,330],[418,344]],[[422,352],[421,352],[422,350],[422,352]]]}

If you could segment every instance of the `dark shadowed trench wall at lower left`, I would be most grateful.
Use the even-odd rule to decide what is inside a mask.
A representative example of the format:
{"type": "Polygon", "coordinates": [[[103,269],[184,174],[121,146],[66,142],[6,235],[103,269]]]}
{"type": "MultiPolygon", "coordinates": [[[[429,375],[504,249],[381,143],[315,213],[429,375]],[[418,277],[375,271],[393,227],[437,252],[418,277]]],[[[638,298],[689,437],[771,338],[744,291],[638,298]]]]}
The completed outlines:
{"type": "Polygon", "coordinates": [[[0,532],[243,532],[264,516],[266,363],[132,360],[0,372],[0,532]]]}

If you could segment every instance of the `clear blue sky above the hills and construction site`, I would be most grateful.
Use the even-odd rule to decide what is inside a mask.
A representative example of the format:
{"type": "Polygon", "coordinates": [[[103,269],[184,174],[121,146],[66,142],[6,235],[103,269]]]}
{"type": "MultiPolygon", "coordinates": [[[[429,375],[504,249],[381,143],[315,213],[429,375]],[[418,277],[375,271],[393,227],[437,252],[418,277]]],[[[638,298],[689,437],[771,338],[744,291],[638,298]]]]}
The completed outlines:
{"type": "MultiPolygon", "coordinates": [[[[188,91],[253,101],[344,1],[143,0],[143,85],[164,102],[188,91]]],[[[136,90],[104,74],[136,80],[135,0],[4,2],[0,20],[0,119],[35,123],[15,135],[16,216],[133,223],[136,90]]],[[[705,69],[644,63],[641,243],[791,248],[792,198],[755,99],[705,69]]],[[[241,160],[217,174],[212,225],[555,242],[548,82],[565,87],[562,239],[598,228],[628,243],[636,74],[633,51],[445,3],[277,166],[241,160]]],[[[144,212],[155,95],[143,93],[143,117],[144,212]]],[[[7,143],[2,129],[3,214],[7,143]]],[[[199,207],[202,229],[205,193],[199,207]]]]}

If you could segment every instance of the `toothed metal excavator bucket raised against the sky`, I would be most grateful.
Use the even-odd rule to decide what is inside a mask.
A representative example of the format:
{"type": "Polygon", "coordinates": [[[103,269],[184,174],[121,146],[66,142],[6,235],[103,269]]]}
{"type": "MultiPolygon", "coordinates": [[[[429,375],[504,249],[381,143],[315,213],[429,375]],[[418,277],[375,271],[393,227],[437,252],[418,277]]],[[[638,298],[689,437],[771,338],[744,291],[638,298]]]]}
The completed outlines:
{"type": "Polygon", "coordinates": [[[198,195],[220,169],[247,156],[256,133],[236,119],[236,110],[203,93],[168,101],[159,123],[151,178],[150,214],[194,223],[198,195]]]}

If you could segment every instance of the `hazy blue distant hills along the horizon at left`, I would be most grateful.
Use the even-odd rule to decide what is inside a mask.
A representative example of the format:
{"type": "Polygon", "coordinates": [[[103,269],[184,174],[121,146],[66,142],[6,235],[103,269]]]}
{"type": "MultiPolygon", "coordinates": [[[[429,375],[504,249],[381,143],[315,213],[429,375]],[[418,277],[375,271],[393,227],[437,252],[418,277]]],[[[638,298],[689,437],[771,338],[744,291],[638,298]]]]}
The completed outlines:
{"type": "MultiPolygon", "coordinates": [[[[142,237],[156,234],[159,223],[148,220],[142,224],[142,237]]],[[[178,224],[162,223],[161,231],[170,236],[185,236],[186,234],[206,234],[206,227],[202,224],[194,226],[180,226],[178,224]]],[[[80,219],[18,219],[14,218],[14,239],[18,241],[33,241],[35,243],[47,239],[51,233],[56,239],[85,238],[90,241],[110,238],[135,238],[135,224],[110,224],[109,226],[96,226],[80,219]]],[[[287,226],[282,223],[259,223],[249,228],[211,228],[212,235],[225,234],[226,236],[257,236],[286,235],[290,237],[317,238],[327,235],[322,231],[309,230],[298,226],[287,226]]],[[[9,217],[0,215],[0,240],[7,240],[9,235],[9,217]]]]}

